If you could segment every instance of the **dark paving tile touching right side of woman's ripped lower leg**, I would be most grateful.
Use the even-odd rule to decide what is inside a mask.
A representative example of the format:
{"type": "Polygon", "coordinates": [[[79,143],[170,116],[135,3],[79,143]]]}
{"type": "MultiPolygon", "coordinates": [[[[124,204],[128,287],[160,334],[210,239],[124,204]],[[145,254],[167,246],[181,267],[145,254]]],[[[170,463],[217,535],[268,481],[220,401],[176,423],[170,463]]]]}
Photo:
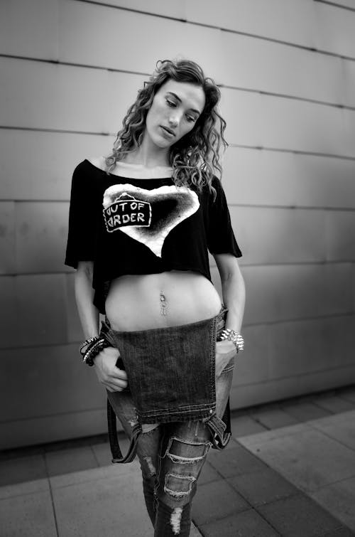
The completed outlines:
{"type": "Polygon", "coordinates": [[[226,481],[197,487],[192,503],[192,520],[197,526],[249,509],[249,504],[226,481]]]}

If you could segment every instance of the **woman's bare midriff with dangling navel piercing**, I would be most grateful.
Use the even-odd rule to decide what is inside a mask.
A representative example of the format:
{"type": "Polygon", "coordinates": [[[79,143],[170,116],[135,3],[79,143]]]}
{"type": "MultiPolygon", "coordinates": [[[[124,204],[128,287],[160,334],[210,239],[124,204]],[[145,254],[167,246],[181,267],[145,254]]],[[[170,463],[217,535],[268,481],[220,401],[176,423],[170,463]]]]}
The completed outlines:
{"type": "Polygon", "coordinates": [[[197,272],[126,275],[111,282],[106,314],[114,330],[180,326],[217,315],[222,307],[209,280],[197,272]]]}

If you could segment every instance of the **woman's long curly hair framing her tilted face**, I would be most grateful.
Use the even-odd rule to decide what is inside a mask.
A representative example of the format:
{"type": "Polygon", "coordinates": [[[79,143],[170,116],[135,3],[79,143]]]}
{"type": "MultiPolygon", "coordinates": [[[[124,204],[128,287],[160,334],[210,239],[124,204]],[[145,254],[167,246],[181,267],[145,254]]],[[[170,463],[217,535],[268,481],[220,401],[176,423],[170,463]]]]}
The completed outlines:
{"type": "Polygon", "coordinates": [[[136,102],[129,107],[118,132],[112,153],[106,158],[107,173],[114,169],[124,155],[141,145],[146,128],[146,116],[153,98],[160,87],[169,79],[192,83],[202,87],[205,96],[204,109],[193,129],[170,147],[170,166],[176,186],[195,186],[199,191],[212,187],[214,173],[222,175],[219,162],[221,147],[228,146],[224,139],[226,122],[219,115],[217,105],[221,92],[211,78],[205,78],[200,65],[192,60],[159,60],[156,69],[138,91],[136,102]]]}

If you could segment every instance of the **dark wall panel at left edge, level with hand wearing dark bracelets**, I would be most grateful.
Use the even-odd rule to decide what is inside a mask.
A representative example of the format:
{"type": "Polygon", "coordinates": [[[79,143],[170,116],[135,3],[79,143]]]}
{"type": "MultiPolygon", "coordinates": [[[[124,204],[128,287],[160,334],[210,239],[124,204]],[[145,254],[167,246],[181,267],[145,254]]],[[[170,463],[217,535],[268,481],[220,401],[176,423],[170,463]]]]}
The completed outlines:
{"type": "Polygon", "coordinates": [[[6,401],[1,405],[0,420],[104,407],[106,392],[93,369],[82,366],[76,344],[2,351],[0,368],[1,398],[6,401]]]}

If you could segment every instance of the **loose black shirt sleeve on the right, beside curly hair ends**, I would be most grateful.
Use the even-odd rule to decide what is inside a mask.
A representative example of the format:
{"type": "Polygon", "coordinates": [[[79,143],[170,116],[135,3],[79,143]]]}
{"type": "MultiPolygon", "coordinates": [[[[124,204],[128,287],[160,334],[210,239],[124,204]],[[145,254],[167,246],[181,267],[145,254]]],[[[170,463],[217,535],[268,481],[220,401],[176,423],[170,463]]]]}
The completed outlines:
{"type": "Polygon", "coordinates": [[[226,203],[226,195],[221,181],[214,177],[212,186],[216,189],[216,199],[209,194],[209,213],[207,222],[207,247],[212,254],[231,253],[241,257],[241,250],[236,243],[231,216],[226,203]]]}

